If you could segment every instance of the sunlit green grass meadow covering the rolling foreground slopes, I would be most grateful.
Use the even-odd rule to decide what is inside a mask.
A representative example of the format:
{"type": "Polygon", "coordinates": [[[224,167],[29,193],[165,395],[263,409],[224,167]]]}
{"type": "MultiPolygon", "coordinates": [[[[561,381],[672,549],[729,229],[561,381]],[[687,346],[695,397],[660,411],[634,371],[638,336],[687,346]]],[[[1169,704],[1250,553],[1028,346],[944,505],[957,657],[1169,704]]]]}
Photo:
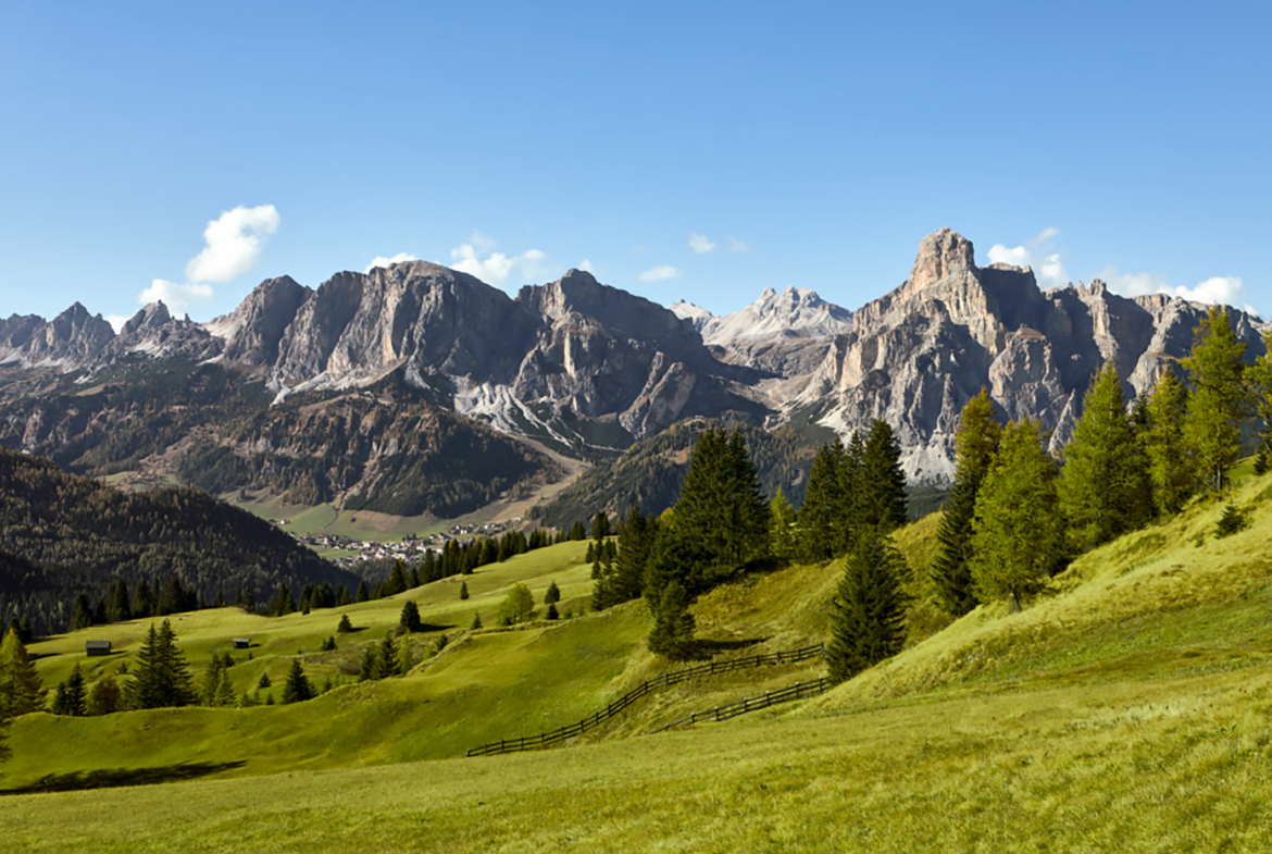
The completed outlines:
{"type": "MultiPolygon", "coordinates": [[[[639,734],[815,668],[677,686],[561,750],[449,759],[571,723],[663,667],[642,649],[647,616],[632,603],[477,634],[410,677],[285,709],[27,715],[0,785],[50,767],[247,764],[190,783],[10,797],[0,835],[15,850],[70,839],[107,850],[1261,850],[1272,827],[1272,476],[1243,473],[1234,500],[1250,519],[1235,536],[1216,540],[1222,505],[1197,503],[1085,555],[1020,613],[986,606],[931,624],[820,697],[683,732],[639,734]]],[[[929,519],[898,537],[913,589],[934,531],[929,519]]],[[[467,625],[519,577],[537,597],[548,578],[583,596],[577,559],[543,550],[480,573],[466,608],[434,585],[412,596],[426,621],[467,625]]],[[[717,589],[695,606],[700,630],[731,654],[819,640],[837,574],[795,566],[717,589]]],[[[383,630],[401,603],[356,607],[383,630]]],[[[333,626],[332,615],[276,621],[262,666],[281,673],[286,655],[329,634],[300,626],[333,626]]],[[[183,644],[197,659],[228,629],[183,644]]],[[[50,677],[73,652],[53,645],[73,641],[42,650],[64,653],[41,661],[50,677]]]]}

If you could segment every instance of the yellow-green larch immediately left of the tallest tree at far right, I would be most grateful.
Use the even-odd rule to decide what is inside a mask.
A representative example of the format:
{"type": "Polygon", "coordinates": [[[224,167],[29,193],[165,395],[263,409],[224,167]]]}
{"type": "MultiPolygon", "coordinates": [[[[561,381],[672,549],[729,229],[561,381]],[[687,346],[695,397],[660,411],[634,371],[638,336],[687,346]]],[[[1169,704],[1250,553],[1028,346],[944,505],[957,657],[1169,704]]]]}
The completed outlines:
{"type": "Polygon", "coordinates": [[[1144,437],[1149,480],[1158,514],[1170,517],[1183,509],[1196,485],[1196,462],[1184,440],[1188,389],[1166,365],[1149,398],[1149,429],[1144,437]]]}

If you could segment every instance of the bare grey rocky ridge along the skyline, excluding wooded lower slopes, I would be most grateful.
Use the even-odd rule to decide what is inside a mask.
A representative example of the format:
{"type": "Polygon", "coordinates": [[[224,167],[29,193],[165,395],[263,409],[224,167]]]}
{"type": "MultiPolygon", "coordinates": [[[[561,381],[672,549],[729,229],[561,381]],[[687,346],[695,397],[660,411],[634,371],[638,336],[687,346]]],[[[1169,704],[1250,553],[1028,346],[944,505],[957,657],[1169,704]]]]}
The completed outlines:
{"type": "MultiPolygon", "coordinates": [[[[581,456],[688,417],[813,423],[842,435],[883,417],[907,473],[941,480],[958,414],[982,386],[1005,416],[1040,419],[1062,443],[1102,364],[1142,391],[1187,354],[1203,313],[1166,295],[1118,297],[1099,281],[1043,290],[1029,269],[977,267],[972,243],[950,229],[925,237],[906,281],[855,312],[787,288],[716,317],[579,270],[513,298],[411,261],[340,272],[317,289],[270,279],[204,325],[162,304],[120,335],[78,304],[51,322],[10,317],[0,321],[0,381],[10,379],[0,396],[39,393],[22,378],[86,384],[137,359],[221,365],[263,383],[275,403],[399,377],[431,405],[581,456]]],[[[1252,358],[1262,353],[1263,325],[1233,314],[1252,358]]],[[[0,405],[0,424],[4,414],[0,405]]],[[[0,442],[33,449],[11,407],[9,420],[0,442]]],[[[76,428],[66,431],[75,442],[76,428]]]]}

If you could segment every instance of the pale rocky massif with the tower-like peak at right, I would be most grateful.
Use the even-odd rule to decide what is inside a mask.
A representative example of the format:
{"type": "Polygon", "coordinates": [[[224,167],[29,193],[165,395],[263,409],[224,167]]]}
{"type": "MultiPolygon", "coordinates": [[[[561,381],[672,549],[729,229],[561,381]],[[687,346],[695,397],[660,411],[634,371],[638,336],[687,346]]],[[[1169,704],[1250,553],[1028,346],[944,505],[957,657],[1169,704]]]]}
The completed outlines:
{"type": "MultiPolygon", "coordinates": [[[[1206,307],[1161,295],[1128,299],[1100,283],[1042,290],[1025,267],[977,267],[972,244],[949,229],[923,238],[899,288],[862,305],[790,409],[822,410],[841,434],[875,417],[897,430],[912,480],[953,473],[958,416],[981,387],[1001,415],[1033,417],[1068,440],[1091,375],[1112,361],[1128,396],[1188,354],[1206,307]]],[[[1255,322],[1233,312],[1250,358],[1255,322]]]]}

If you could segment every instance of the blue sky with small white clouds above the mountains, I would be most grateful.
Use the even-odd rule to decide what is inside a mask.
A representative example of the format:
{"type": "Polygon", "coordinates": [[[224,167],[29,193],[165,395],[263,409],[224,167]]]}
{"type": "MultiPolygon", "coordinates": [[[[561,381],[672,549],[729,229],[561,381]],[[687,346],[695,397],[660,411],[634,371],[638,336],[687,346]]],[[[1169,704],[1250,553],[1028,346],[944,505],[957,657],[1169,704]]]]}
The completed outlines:
{"type": "Polygon", "coordinates": [[[0,4],[0,316],[398,253],[856,308],[941,225],[1272,313],[1272,4],[856,5],[0,4]]]}

